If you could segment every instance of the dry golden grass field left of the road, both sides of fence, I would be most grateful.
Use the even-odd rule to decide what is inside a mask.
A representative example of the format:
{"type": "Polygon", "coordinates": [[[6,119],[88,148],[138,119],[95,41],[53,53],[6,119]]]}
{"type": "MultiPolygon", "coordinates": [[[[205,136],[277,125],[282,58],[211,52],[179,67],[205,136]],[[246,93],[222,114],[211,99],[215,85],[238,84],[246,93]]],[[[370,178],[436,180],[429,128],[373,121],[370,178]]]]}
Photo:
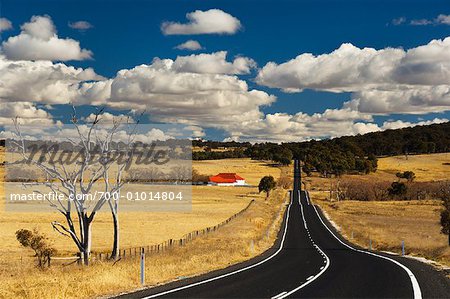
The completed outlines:
{"type": "MultiPolygon", "coordinates": [[[[2,160],[0,156],[0,162],[2,160]]],[[[266,174],[278,178],[281,173],[279,168],[249,159],[205,162],[194,162],[193,168],[203,174],[237,172],[250,184],[257,184],[266,174]]],[[[4,196],[1,183],[0,188],[0,195],[4,196]]],[[[267,250],[280,225],[279,208],[285,200],[285,191],[273,192],[267,201],[264,198],[263,194],[257,193],[256,187],[193,186],[192,212],[121,213],[121,246],[145,246],[179,238],[222,222],[255,199],[249,210],[217,232],[195,239],[184,247],[147,256],[146,284],[155,285],[244,261],[267,250]]],[[[122,260],[114,266],[95,263],[87,268],[63,267],[56,262],[45,271],[36,269],[31,251],[19,246],[14,233],[20,228],[39,228],[59,254],[72,254],[75,248],[71,241],[51,229],[53,220],[62,218],[58,213],[0,211],[0,298],[94,297],[140,287],[135,259],[122,260]]],[[[111,242],[110,216],[98,214],[93,224],[93,251],[108,251],[111,242]]]]}

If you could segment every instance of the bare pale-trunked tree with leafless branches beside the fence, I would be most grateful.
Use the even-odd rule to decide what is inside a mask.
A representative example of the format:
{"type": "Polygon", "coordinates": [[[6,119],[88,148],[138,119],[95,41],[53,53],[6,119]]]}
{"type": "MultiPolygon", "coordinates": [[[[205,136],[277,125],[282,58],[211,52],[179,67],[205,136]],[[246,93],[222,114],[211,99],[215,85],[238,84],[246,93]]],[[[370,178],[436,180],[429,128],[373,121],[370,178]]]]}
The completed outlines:
{"type": "MultiPolygon", "coordinates": [[[[95,215],[104,206],[109,204],[114,223],[114,243],[112,258],[117,257],[119,246],[119,222],[118,203],[120,190],[124,184],[122,173],[132,159],[133,136],[135,126],[132,131],[126,131],[128,140],[125,147],[119,147],[114,141],[114,137],[120,127],[119,122],[113,122],[109,129],[104,129],[105,134],[98,132],[98,124],[101,120],[103,109],[98,109],[94,120],[86,125],[86,130],[82,129],[78,123],[75,107],[71,122],[77,132],[77,139],[68,141],[74,148],[80,150],[75,167],[68,169],[64,163],[55,163],[52,159],[33,159],[25,145],[24,137],[20,130],[18,118],[14,119],[14,126],[18,135],[18,142],[14,144],[19,148],[23,161],[35,165],[46,176],[42,183],[54,193],[63,194],[68,200],[57,198],[56,201],[49,201],[50,206],[58,210],[65,218],[65,224],[53,221],[53,228],[60,234],[69,237],[76,245],[80,258],[85,265],[89,264],[92,247],[92,222],[95,215]],[[98,156],[98,157],[97,157],[98,156]],[[118,163],[117,157],[121,157],[118,163]],[[112,175],[112,168],[116,166],[115,174],[112,175]],[[99,198],[94,203],[90,202],[89,196],[93,191],[94,184],[103,184],[103,190],[99,198]],[[114,199],[112,198],[114,197],[114,199]],[[76,214],[77,219],[74,218],[76,214]],[[78,227],[75,224],[78,220],[78,227]]],[[[128,121],[127,121],[128,122],[128,121]]],[[[129,126],[128,126],[129,127],[129,126]]],[[[49,153],[47,153],[49,155],[49,153]]],[[[36,193],[41,193],[35,190],[36,193]]]]}

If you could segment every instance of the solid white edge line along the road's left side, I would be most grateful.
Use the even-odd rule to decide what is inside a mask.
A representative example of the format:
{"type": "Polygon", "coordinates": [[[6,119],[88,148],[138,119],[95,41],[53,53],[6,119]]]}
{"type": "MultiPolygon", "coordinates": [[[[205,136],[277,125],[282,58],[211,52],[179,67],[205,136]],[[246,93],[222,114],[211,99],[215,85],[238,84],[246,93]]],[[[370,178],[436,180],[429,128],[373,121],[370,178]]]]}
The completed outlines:
{"type": "Polygon", "coordinates": [[[159,296],[164,296],[164,295],[167,295],[167,294],[171,294],[171,293],[175,293],[175,292],[178,292],[178,291],[181,291],[181,290],[192,288],[192,287],[195,287],[195,286],[198,286],[198,285],[202,285],[202,284],[205,284],[205,283],[208,283],[208,282],[211,282],[211,281],[219,280],[221,278],[225,278],[225,277],[228,277],[228,276],[231,276],[231,275],[234,275],[234,274],[237,274],[237,273],[240,273],[240,272],[252,269],[252,268],[254,268],[256,266],[259,266],[259,265],[261,265],[261,264],[271,260],[278,253],[280,253],[280,251],[283,249],[284,240],[286,238],[286,233],[287,233],[287,228],[288,228],[289,212],[291,210],[292,200],[293,200],[293,192],[291,192],[291,200],[289,202],[289,206],[288,206],[288,209],[287,209],[286,223],[284,225],[283,238],[281,239],[280,248],[278,248],[278,250],[276,252],[274,252],[271,256],[265,258],[262,261],[257,262],[256,264],[253,264],[253,265],[250,265],[250,266],[247,266],[247,267],[235,270],[235,271],[230,272],[230,273],[225,273],[225,274],[222,274],[222,275],[219,275],[219,276],[216,276],[216,277],[211,277],[211,278],[208,278],[208,279],[205,279],[205,280],[201,280],[201,281],[198,281],[198,282],[195,282],[195,283],[191,283],[191,284],[188,284],[188,285],[185,285],[185,286],[182,286],[182,287],[170,289],[170,290],[167,290],[167,291],[164,291],[164,292],[156,293],[156,294],[153,294],[153,295],[150,295],[150,296],[141,297],[141,299],[150,299],[150,298],[155,298],[155,297],[159,297],[159,296]]]}

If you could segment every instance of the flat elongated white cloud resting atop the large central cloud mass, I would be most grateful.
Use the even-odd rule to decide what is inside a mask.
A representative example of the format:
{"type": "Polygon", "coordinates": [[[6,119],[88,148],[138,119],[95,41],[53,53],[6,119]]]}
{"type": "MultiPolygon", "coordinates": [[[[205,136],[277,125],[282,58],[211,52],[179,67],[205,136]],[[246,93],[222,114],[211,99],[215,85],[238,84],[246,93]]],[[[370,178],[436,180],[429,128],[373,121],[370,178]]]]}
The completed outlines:
{"type": "Polygon", "coordinates": [[[187,73],[248,74],[256,67],[256,62],[251,58],[236,57],[233,62],[228,62],[226,57],[226,51],[178,56],[173,62],[172,69],[187,73]]]}

